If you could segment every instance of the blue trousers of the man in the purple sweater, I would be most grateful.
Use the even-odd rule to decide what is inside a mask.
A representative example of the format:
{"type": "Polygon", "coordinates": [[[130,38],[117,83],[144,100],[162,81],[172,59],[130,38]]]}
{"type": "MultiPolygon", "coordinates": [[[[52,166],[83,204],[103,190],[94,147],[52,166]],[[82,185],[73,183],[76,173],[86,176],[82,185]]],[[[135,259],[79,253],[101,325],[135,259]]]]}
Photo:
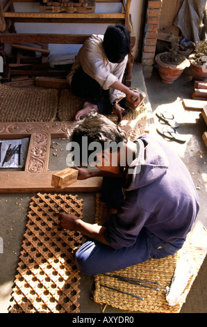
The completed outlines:
{"type": "MultiPolygon", "coordinates": [[[[122,179],[114,178],[112,181],[111,178],[104,178],[103,200],[110,207],[118,209],[122,204],[122,183],[122,179]]],[[[185,239],[179,239],[169,244],[151,234],[146,228],[142,228],[133,246],[118,250],[89,239],[76,252],[76,266],[88,276],[109,273],[140,264],[151,258],[160,259],[174,255],[183,246],[184,241],[185,239]]]]}

